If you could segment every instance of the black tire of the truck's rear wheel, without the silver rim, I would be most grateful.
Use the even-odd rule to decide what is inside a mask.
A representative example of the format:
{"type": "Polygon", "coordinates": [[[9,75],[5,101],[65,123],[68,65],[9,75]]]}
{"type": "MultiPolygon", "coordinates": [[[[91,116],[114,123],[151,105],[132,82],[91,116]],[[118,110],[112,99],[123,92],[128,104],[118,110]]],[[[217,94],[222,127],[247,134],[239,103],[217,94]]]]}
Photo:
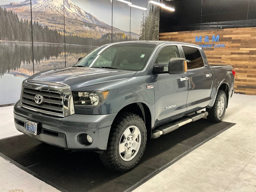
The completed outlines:
{"type": "Polygon", "coordinates": [[[207,116],[207,119],[212,121],[212,122],[220,122],[222,121],[225,112],[226,112],[226,107],[227,107],[227,96],[226,93],[223,90],[219,90],[217,93],[217,97],[216,100],[214,102],[214,105],[212,106],[212,108],[206,108],[206,111],[209,113],[207,116]],[[224,99],[224,109],[223,109],[223,113],[219,116],[218,115],[218,103],[220,98],[223,97],[224,99]]]}

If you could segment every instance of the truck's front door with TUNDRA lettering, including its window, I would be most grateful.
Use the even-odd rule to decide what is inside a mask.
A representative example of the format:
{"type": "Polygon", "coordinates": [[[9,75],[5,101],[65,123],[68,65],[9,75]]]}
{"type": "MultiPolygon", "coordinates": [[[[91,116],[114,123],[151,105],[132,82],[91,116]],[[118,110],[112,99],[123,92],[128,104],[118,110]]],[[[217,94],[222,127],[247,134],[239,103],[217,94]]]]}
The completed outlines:
{"type": "MultiPolygon", "coordinates": [[[[156,58],[156,64],[168,64],[171,58],[180,58],[177,46],[163,47],[156,58]]],[[[155,91],[155,126],[171,121],[186,112],[188,96],[187,74],[156,74],[153,68],[152,79],[155,91]]]]}

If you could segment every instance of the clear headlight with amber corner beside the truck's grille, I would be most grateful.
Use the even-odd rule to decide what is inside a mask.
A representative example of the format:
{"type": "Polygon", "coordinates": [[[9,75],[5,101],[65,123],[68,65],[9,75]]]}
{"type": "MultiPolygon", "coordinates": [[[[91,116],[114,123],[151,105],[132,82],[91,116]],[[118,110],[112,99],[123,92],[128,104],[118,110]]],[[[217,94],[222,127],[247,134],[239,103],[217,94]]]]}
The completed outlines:
{"type": "Polygon", "coordinates": [[[108,97],[109,90],[73,92],[74,105],[99,106],[108,97]]]}

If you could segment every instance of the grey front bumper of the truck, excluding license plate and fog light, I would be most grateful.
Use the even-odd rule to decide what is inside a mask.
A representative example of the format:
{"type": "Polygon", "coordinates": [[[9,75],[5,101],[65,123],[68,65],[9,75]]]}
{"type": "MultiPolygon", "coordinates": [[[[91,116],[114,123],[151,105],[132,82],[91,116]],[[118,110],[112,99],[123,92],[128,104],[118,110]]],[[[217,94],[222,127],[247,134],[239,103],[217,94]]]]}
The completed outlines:
{"type": "Polygon", "coordinates": [[[20,107],[18,101],[13,108],[14,123],[18,131],[44,143],[70,150],[105,150],[110,127],[116,113],[108,115],[79,115],[54,117],[20,107]],[[38,123],[38,133],[33,135],[24,129],[25,120],[38,123]],[[77,136],[91,135],[92,144],[82,145],[77,136]]]}

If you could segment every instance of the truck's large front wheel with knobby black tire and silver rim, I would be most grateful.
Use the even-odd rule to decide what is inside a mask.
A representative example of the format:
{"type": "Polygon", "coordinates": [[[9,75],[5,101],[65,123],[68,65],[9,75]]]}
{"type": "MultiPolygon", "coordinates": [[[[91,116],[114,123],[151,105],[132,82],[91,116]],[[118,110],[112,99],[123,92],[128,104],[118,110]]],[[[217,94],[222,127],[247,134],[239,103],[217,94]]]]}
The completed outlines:
{"type": "Polygon", "coordinates": [[[102,163],[119,172],[134,168],[140,161],[147,142],[147,129],[134,113],[119,115],[112,124],[107,150],[100,155],[102,163]]]}

